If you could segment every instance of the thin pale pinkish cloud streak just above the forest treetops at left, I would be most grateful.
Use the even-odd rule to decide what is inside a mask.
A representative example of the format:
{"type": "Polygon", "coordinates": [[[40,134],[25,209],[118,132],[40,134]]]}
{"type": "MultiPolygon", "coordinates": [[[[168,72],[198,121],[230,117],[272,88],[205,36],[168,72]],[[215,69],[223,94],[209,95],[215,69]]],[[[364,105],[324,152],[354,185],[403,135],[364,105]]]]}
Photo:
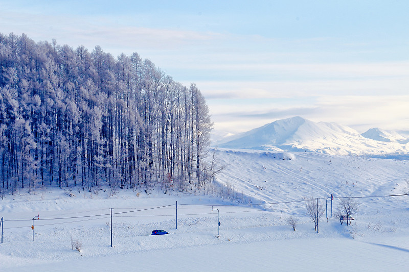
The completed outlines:
{"type": "Polygon", "coordinates": [[[180,50],[180,47],[206,43],[220,37],[220,34],[212,32],[129,26],[119,23],[115,17],[99,16],[44,16],[10,12],[0,17],[0,24],[4,33],[26,33],[35,40],[55,38],[59,43],[74,47],[84,44],[90,49],[101,45],[114,55],[122,52],[131,54],[138,50],[180,50]]]}

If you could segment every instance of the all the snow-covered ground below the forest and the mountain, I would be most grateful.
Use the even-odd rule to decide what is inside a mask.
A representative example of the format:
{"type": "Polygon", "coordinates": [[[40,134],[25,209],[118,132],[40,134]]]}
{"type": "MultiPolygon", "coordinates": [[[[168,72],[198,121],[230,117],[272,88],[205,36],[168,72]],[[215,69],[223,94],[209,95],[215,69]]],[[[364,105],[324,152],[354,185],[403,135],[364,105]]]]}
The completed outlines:
{"type": "Polygon", "coordinates": [[[409,197],[388,195],[406,191],[409,160],[216,153],[227,166],[208,185],[210,195],[80,187],[6,195],[0,271],[407,270],[409,197]],[[316,233],[300,201],[318,197],[326,207],[331,194],[334,207],[336,197],[362,196],[359,213],[351,226],[340,225],[329,198],[329,218],[324,213],[316,233]],[[286,224],[290,215],[299,219],[295,232],[286,224]],[[154,229],[170,234],[151,236],[154,229]],[[82,243],[80,252],[72,239],[82,243]]]}

